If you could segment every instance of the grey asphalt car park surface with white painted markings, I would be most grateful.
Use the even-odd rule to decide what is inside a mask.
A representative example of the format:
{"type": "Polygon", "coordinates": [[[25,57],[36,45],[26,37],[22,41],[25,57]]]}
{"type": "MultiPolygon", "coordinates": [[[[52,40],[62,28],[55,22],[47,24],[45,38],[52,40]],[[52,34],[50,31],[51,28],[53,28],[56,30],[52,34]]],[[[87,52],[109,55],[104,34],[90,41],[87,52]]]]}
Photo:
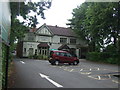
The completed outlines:
{"type": "Polygon", "coordinates": [[[13,88],[118,88],[118,66],[80,60],[79,65],[50,65],[46,60],[15,59],[13,88]]]}

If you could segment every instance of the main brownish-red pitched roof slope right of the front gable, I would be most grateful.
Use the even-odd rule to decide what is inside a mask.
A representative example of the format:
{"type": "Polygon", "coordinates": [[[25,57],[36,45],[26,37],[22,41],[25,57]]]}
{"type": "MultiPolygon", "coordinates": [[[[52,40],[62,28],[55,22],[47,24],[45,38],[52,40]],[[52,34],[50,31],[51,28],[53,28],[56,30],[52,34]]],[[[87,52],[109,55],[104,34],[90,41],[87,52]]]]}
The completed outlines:
{"type": "Polygon", "coordinates": [[[70,28],[46,25],[54,35],[75,37],[75,33],[70,28]]]}

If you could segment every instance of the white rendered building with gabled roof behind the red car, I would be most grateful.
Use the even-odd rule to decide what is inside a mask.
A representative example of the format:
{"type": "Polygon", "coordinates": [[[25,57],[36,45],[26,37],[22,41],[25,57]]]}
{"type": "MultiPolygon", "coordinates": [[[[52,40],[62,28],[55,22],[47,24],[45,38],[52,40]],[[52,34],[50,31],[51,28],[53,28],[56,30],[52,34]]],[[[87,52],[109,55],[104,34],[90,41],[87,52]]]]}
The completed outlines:
{"type": "Polygon", "coordinates": [[[85,54],[85,42],[79,40],[70,28],[43,24],[38,29],[31,29],[18,44],[18,56],[48,55],[50,49],[67,49],[79,58],[85,54]]]}

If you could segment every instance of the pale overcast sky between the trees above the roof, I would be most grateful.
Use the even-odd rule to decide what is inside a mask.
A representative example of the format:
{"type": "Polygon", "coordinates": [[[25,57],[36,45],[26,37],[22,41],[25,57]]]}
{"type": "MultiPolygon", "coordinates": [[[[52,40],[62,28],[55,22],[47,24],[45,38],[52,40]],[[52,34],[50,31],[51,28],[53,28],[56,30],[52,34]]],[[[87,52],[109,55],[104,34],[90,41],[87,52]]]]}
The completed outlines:
{"type": "Polygon", "coordinates": [[[68,23],[68,19],[72,18],[72,10],[80,6],[83,2],[85,0],[52,0],[51,8],[45,11],[46,19],[38,16],[39,24],[37,27],[40,27],[44,23],[47,25],[67,27],[66,23],[68,23]]]}

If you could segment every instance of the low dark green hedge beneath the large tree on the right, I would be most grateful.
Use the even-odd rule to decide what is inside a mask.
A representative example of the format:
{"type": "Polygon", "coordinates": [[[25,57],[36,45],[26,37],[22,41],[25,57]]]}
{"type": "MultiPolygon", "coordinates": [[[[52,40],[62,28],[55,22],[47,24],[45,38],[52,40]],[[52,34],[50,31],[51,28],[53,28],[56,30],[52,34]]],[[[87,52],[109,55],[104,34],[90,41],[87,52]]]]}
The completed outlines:
{"type": "Polygon", "coordinates": [[[118,53],[89,52],[87,54],[87,60],[120,65],[120,55],[118,53]]]}

